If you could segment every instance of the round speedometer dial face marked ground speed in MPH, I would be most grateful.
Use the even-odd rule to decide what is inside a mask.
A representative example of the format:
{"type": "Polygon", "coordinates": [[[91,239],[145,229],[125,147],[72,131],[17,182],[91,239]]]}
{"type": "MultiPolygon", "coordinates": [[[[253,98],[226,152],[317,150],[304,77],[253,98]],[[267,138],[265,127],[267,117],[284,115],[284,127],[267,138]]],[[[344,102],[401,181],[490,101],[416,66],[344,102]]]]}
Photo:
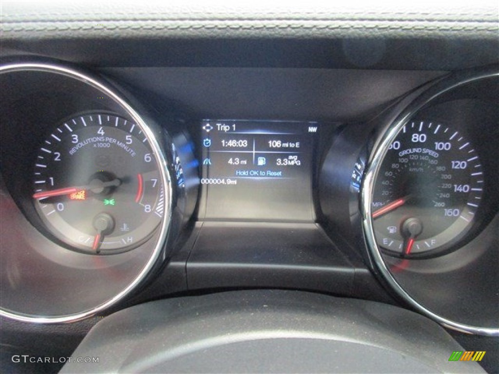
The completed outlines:
{"type": "Polygon", "coordinates": [[[472,227],[483,187],[478,154],[459,131],[440,122],[407,123],[374,183],[376,242],[400,256],[450,248],[472,227]]]}

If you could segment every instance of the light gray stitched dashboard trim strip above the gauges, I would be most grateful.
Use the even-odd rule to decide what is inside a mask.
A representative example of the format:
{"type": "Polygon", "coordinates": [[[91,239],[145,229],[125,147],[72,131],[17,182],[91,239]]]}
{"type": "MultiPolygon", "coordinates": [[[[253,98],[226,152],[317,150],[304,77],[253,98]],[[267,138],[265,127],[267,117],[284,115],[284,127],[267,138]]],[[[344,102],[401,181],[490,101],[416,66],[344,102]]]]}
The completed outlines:
{"type": "Polygon", "coordinates": [[[458,1],[452,8],[438,3],[397,4],[368,1],[349,4],[309,1],[286,6],[256,1],[234,4],[216,1],[182,6],[176,1],[154,4],[123,4],[119,8],[100,1],[84,4],[47,3],[33,12],[29,3],[7,3],[3,7],[2,38],[113,38],[131,37],[377,37],[460,36],[496,39],[497,8],[492,3],[470,5],[458,1]],[[91,11],[89,11],[91,9],[91,11]],[[62,21],[61,21],[62,19],[62,21]],[[436,23],[438,22],[438,27],[436,23]],[[35,36],[34,36],[35,35],[35,36]]]}

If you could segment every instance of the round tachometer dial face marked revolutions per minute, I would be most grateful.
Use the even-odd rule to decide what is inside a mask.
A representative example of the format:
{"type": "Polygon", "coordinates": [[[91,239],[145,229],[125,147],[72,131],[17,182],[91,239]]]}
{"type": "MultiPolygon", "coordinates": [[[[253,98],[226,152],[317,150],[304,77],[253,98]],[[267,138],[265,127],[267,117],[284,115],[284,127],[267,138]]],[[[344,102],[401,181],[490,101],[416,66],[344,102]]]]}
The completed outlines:
{"type": "Polygon", "coordinates": [[[33,188],[47,230],[87,253],[130,250],[164,215],[164,187],[146,135],[111,114],[82,115],[51,129],[37,153],[33,188]]]}

